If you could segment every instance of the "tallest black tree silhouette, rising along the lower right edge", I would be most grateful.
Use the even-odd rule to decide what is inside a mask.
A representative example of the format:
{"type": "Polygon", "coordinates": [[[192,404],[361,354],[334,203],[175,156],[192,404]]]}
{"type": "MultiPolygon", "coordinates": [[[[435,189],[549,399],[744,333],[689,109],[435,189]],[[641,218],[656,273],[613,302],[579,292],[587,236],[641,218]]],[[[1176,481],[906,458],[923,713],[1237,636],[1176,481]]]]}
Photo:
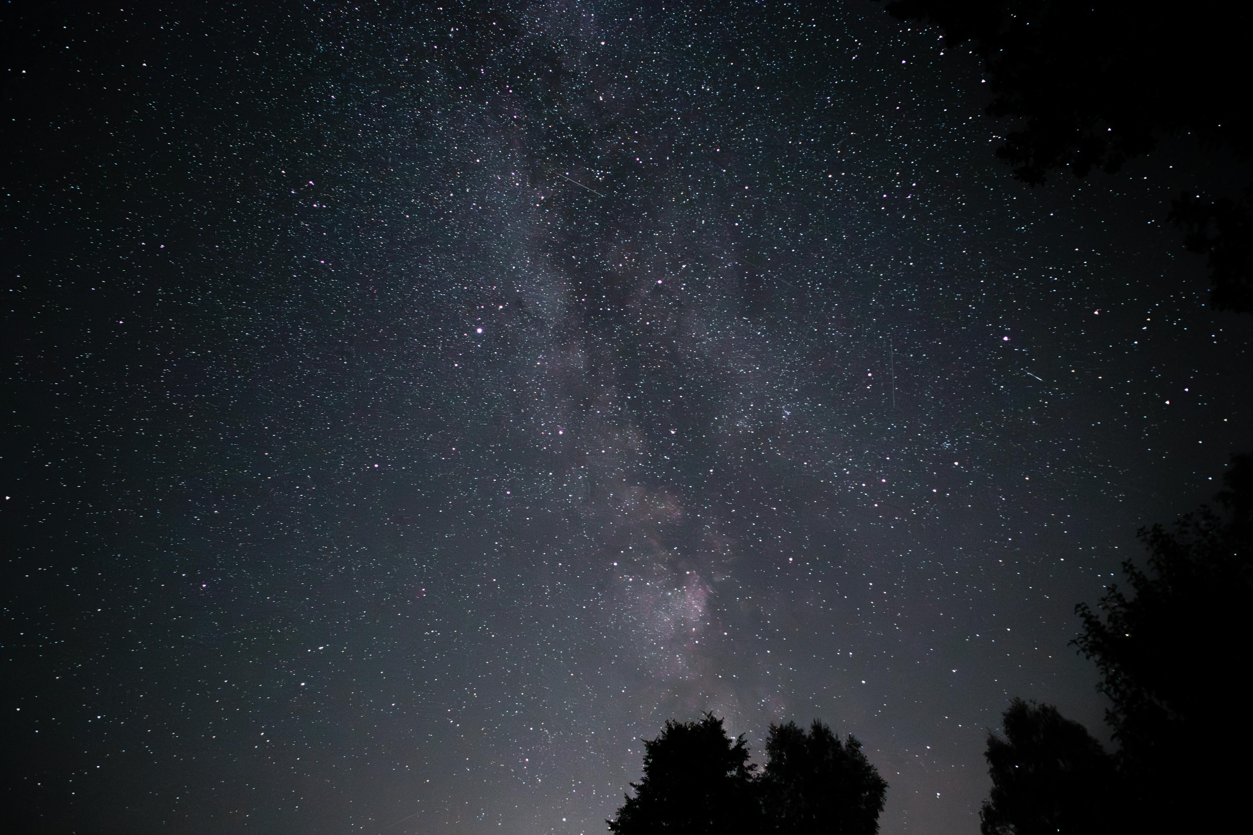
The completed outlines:
{"type": "MultiPolygon", "coordinates": [[[[1174,530],[1140,531],[1149,560],[1123,563],[1130,595],[1110,586],[1100,613],[1076,607],[1084,631],[1075,645],[1113,702],[1106,720],[1135,809],[1184,829],[1204,826],[1180,796],[1238,797],[1249,775],[1247,762],[1194,764],[1253,744],[1253,719],[1237,704],[1253,636],[1253,456],[1233,457],[1224,481],[1219,512],[1203,507],[1174,530]]],[[[1207,804],[1199,817],[1217,822],[1222,810],[1207,804]]]]}

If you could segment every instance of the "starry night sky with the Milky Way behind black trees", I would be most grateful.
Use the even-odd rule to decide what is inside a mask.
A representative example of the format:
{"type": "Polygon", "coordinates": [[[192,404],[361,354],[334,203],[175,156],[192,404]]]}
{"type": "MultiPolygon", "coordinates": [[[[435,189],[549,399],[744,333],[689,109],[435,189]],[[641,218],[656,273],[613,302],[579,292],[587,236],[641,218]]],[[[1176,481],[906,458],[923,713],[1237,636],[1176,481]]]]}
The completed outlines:
{"type": "Polygon", "coordinates": [[[598,832],[713,711],[956,835],[1011,696],[1101,730],[1073,607],[1249,432],[1187,146],[1029,189],[862,0],[183,5],[3,13],[30,831],[598,832]]]}

